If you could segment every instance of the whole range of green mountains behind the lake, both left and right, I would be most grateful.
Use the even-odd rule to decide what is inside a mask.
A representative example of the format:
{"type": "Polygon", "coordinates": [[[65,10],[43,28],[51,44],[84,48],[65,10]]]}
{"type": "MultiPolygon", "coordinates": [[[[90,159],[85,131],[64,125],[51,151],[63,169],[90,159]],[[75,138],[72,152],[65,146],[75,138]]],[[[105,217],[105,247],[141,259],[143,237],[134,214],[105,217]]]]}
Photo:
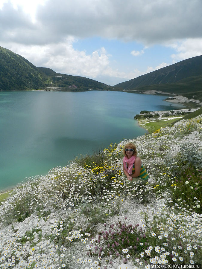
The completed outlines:
{"type": "Polygon", "coordinates": [[[202,102],[202,55],[177,62],[132,80],[109,86],[86,77],[56,73],[36,67],[0,46],[0,91],[22,91],[54,87],[60,91],[145,91],[183,95],[202,102]]]}

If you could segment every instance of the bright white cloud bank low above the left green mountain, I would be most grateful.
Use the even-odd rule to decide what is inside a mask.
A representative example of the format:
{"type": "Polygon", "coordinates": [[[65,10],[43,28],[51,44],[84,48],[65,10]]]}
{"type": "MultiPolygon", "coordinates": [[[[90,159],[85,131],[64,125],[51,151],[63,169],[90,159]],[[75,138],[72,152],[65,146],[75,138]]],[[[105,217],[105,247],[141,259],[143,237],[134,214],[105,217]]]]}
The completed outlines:
{"type": "Polygon", "coordinates": [[[72,74],[95,78],[106,74],[109,66],[109,55],[105,48],[86,54],[73,48],[74,38],[69,37],[64,43],[19,46],[11,44],[9,49],[28,59],[35,66],[48,67],[58,73],[72,74]]]}

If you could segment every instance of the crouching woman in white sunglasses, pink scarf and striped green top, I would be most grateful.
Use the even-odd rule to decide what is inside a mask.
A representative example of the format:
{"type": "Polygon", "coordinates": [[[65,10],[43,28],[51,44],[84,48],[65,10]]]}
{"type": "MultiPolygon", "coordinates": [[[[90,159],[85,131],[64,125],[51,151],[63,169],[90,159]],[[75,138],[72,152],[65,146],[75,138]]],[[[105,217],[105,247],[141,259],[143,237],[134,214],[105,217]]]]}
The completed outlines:
{"type": "Polygon", "coordinates": [[[123,171],[127,178],[127,184],[131,182],[140,182],[146,184],[148,182],[148,174],[139,157],[137,157],[137,149],[135,144],[127,143],[123,148],[123,171]]]}

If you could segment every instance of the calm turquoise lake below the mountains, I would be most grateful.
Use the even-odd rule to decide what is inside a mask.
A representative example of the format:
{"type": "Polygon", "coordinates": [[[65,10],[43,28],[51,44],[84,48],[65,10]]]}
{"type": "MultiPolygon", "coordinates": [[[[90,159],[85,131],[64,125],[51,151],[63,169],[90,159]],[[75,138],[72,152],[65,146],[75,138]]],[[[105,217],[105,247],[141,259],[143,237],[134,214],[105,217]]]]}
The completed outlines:
{"type": "Polygon", "coordinates": [[[0,190],[79,154],[138,137],[141,110],[183,108],[165,96],[113,91],[0,92],[0,190]]]}

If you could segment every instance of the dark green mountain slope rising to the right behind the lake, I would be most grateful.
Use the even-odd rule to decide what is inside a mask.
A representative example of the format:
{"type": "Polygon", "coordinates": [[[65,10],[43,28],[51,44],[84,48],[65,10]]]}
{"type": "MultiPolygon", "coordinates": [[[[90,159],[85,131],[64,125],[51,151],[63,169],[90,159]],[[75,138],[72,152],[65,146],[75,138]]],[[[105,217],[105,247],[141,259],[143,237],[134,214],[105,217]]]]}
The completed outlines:
{"type": "Polygon", "coordinates": [[[201,85],[202,55],[163,67],[114,87],[138,92],[163,91],[202,101],[201,85]]]}

